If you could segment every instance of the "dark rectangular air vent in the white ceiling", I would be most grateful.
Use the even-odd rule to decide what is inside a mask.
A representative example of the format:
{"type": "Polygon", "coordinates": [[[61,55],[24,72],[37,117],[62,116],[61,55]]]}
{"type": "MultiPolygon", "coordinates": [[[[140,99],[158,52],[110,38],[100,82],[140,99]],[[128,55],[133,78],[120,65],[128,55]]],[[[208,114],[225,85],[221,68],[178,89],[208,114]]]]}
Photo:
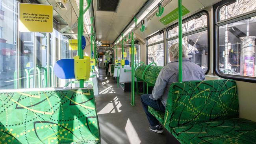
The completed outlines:
{"type": "Polygon", "coordinates": [[[98,0],[99,11],[117,11],[117,6],[120,0],[98,0]]]}

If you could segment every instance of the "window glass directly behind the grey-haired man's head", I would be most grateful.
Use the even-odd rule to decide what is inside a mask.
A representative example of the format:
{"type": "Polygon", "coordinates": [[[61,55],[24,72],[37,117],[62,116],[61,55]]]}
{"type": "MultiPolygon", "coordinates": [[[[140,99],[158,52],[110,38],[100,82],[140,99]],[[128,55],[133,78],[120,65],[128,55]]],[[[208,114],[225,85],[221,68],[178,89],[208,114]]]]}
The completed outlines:
{"type": "MultiPolygon", "coordinates": [[[[182,23],[182,44],[187,48],[189,59],[199,65],[205,73],[208,71],[208,14],[200,12],[192,17],[183,20],[182,23]]],[[[167,29],[167,50],[171,45],[178,43],[177,24],[167,29]]],[[[167,62],[171,62],[167,54],[167,62]]]]}

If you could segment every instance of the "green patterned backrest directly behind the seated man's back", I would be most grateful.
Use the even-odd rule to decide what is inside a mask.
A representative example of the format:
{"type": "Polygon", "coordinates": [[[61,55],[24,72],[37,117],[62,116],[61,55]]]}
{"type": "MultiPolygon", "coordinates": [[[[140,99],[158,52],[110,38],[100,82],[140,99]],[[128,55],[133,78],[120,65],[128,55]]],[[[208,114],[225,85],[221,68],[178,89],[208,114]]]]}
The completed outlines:
{"type": "Polygon", "coordinates": [[[238,116],[239,104],[234,80],[175,82],[169,90],[164,127],[171,132],[176,126],[238,116]]]}

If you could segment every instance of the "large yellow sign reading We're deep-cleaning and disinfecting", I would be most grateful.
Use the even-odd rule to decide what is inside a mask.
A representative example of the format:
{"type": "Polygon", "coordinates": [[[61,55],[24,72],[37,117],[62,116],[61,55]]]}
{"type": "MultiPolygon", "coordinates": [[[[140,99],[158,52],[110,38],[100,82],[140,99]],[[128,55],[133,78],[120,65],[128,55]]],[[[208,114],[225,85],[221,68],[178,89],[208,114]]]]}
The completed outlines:
{"type": "Polygon", "coordinates": [[[19,31],[44,32],[53,31],[53,7],[41,4],[19,4],[19,31]]]}

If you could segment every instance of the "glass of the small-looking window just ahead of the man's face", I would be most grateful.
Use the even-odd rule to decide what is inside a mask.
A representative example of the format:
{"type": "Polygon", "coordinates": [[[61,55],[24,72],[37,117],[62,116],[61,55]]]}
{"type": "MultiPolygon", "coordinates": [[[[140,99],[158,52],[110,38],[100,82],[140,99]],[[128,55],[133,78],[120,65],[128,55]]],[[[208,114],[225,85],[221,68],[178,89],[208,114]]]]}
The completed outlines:
{"type": "Polygon", "coordinates": [[[147,38],[147,63],[164,65],[163,31],[147,38]]]}

